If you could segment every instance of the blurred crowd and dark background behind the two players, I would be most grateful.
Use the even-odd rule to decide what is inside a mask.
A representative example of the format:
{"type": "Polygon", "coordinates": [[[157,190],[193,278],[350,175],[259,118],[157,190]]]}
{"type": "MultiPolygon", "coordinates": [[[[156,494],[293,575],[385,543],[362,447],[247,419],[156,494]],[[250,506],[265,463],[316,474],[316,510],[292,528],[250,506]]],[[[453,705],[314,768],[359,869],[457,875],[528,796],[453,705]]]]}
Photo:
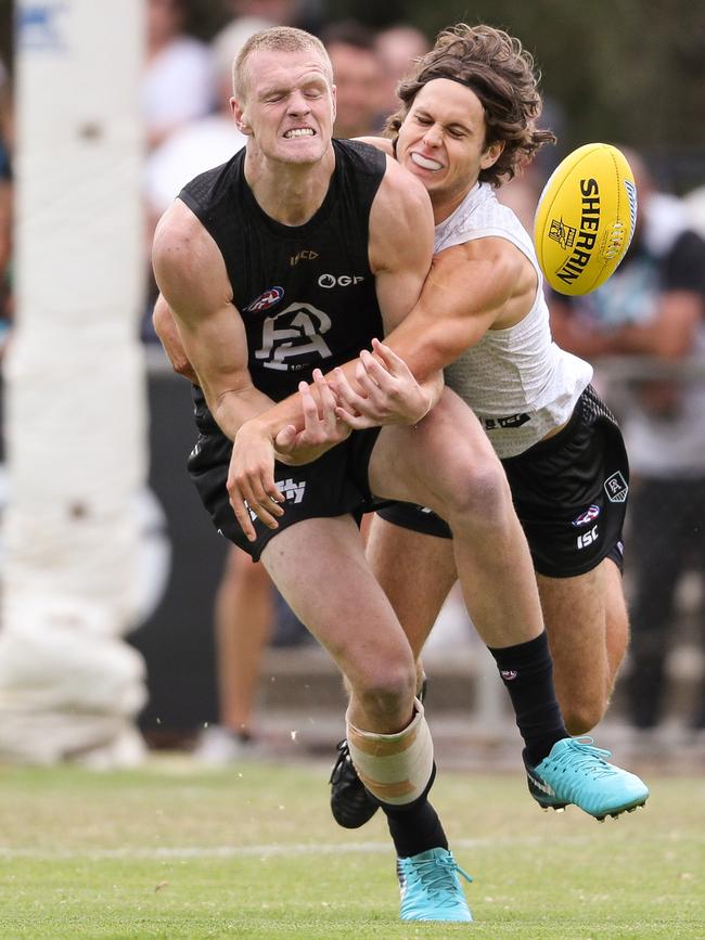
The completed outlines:
{"type": "MultiPolygon", "coordinates": [[[[256,638],[268,638],[273,649],[297,651],[296,662],[303,665],[293,685],[298,693],[310,688],[307,677],[319,668],[313,644],[259,566],[227,553],[189,489],[183,466],[192,440],[184,404],[188,385],[170,374],[151,327],[156,288],[149,245],[154,224],[183,183],[243,145],[230,120],[230,69],[252,33],[287,24],[317,34],[335,73],[335,133],[356,137],[382,131],[396,110],[399,79],[439,29],[462,20],[516,35],[542,72],[543,124],[556,132],[559,143],[501,191],[529,230],[546,179],[575,146],[598,140],[616,143],[626,150],[637,175],[639,228],[620,269],[593,295],[574,302],[559,296],[549,300],[556,342],[595,365],[595,384],[624,424],[632,463],[626,555],[632,645],[611,716],[636,735],[653,736],[666,727],[672,736],[676,726],[705,749],[702,4],[144,0],[144,5],[142,338],[150,369],[150,482],[156,497],[145,521],[145,565],[153,566],[155,582],[163,583],[155,583],[144,622],[131,641],[144,654],[150,672],[150,704],[142,719],[150,741],[195,746],[214,760],[235,759],[251,745],[262,724],[254,708],[262,701],[258,682],[266,685],[272,678],[257,658],[256,638]],[[168,543],[166,555],[159,555],[163,542],[168,543]],[[235,651],[242,659],[239,681],[245,704],[235,703],[228,718],[222,698],[218,703],[217,653],[221,651],[221,660],[233,656],[228,638],[236,629],[230,622],[235,611],[252,618],[255,641],[252,651],[235,651]],[[202,739],[200,730],[213,723],[230,727],[225,747],[213,735],[209,744],[202,739]]],[[[12,4],[0,0],[3,343],[11,340],[13,320],[12,53],[12,4]]],[[[467,658],[460,661],[470,674],[478,647],[452,597],[440,620],[430,660],[437,655],[443,661],[450,651],[457,665],[457,651],[466,649],[467,658]]],[[[474,699],[477,708],[490,707],[491,700],[491,694],[474,699]]]]}

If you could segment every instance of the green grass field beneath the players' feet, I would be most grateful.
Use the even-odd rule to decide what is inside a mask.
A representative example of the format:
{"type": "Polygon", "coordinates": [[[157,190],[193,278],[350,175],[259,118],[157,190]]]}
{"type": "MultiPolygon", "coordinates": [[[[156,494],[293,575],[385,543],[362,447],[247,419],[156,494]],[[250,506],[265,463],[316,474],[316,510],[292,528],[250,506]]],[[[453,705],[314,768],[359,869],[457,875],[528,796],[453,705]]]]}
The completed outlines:
{"type": "Polygon", "coordinates": [[[599,824],[521,776],[440,774],[472,925],[401,924],[384,821],[347,833],[328,768],[0,771],[0,937],[705,938],[705,781],[599,824]]]}

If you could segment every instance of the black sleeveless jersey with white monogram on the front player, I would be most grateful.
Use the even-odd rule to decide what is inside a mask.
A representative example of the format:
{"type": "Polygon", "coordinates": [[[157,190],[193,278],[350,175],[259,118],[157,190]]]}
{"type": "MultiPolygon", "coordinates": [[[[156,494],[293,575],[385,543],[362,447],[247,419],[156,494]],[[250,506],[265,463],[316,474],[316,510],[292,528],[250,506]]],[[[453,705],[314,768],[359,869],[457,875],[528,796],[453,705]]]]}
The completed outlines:
{"type": "MultiPolygon", "coordinates": [[[[333,146],[330,189],[303,226],[262,211],[245,180],[244,150],[179,194],[220,248],[245,324],[253,383],[274,401],[310,381],[313,369],[328,372],[355,359],[383,335],[368,242],[386,158],[357,141],[333,146]]],[[[211,428],[200,388],[194,401],[198,424],[211,428]]]]}

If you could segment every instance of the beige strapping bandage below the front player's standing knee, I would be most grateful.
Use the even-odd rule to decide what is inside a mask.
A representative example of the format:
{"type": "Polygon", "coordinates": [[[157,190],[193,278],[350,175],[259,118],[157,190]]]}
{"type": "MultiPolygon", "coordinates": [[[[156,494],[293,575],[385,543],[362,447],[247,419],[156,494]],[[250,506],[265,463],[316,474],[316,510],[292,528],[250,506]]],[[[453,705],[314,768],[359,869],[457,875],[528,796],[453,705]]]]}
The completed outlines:
{"type": "Polygon", "coordinates": [[[433,741],[419,699],[411,724],[397,734],[361,731],[346,721],[350,757],[370,793],[393,806],[418,799],[433,773],[433,741]]]}

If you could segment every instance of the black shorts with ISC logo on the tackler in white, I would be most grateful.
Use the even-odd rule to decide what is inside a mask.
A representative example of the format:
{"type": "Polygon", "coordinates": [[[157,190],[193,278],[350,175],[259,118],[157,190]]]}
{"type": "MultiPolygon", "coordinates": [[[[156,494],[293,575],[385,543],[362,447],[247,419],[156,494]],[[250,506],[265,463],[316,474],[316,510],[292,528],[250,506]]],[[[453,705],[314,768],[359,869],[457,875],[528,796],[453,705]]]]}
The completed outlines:
{"type": "MultiPolygon", "coordinates": [[[[562,430],[502,465],[536,571],[571,578],[607,557],[621,570],[629,462],[619,426],[592,386],[562,430]]],[[[422,506],[392,503],[377,513],[397,526],[452,538],[422,506]]]]}

